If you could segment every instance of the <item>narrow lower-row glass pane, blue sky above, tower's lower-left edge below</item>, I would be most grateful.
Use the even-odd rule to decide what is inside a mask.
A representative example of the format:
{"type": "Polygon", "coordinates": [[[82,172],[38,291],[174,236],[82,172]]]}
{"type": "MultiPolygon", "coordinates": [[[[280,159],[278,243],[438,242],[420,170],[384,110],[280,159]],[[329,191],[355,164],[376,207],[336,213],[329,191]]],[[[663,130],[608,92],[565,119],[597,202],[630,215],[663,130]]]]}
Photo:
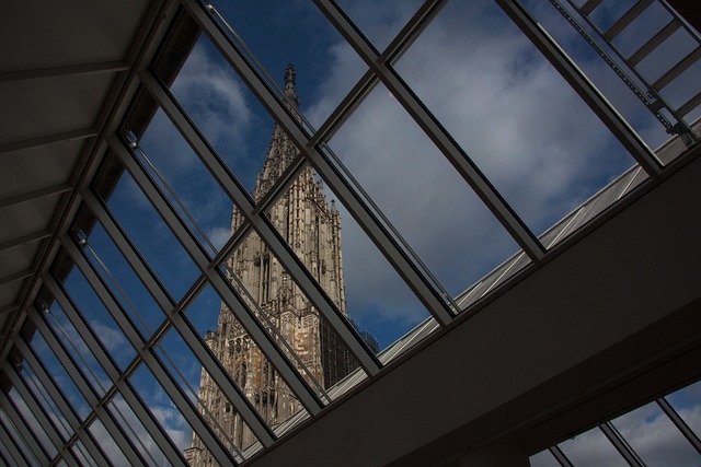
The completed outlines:
{"type": "MultiPolygon", "coordinates": [[[[257,440],[240,418],[237,417],[234,421],[230,416],[223,415],[233,412],[230,400],[214,381],[205,374],[202,362],[193,354],[180,334],[171,329],[160,341],[156,350],[173,378],[193,405],[197,407],[221,443],[227,446],[234,457],[242,460],[243,458],[239,452],[239,446],[248,447],[249,444],[257,440]],[[200,376],[206,384],[200,382],[200,376]],[[210,407],[214,410],[210,410],[210,407]],[[234,437],[231,437],[231,434],[233,434],[234,437]],[[239,435],[239,440],[235,439],[235,435],[239,435]],[[241,443],[240,441],[243,439],[245,439],[245,442],[241,443]]],[[[193,447],[198,444],[202,444],[200,441],[197,440],[197,436],[194,436],[193,447]]]]}

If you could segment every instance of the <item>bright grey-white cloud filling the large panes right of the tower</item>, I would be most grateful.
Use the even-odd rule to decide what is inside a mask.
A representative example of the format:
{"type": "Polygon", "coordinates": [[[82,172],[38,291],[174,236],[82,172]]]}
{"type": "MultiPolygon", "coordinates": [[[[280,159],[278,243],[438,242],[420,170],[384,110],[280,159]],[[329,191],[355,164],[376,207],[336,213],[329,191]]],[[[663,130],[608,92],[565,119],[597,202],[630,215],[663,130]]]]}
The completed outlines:
{"type": "MultiPolygon", "coordinates": [[[[334,71],[310,109],[312,120],[327,115],[324,106],[348,89],[336,80],[364,71],[350,69],[357,67],[353,54],[333,48],[334,71]]],[[[395,68],[537,234],[633,163],[491,3],[449,3],[395,68]]],[[[514,253],[515,243],[389,96],[379,85],[331,145],[448,291],[458,293],[514,253]]],[[[367,255],[348,215],[349,303],[354,294],[360,302],[395,296],[400,306],[384,307],[384,318],[415,320],[416,310],[402,300],[405,290],[379,272],[383,260],[367,255]]]]}

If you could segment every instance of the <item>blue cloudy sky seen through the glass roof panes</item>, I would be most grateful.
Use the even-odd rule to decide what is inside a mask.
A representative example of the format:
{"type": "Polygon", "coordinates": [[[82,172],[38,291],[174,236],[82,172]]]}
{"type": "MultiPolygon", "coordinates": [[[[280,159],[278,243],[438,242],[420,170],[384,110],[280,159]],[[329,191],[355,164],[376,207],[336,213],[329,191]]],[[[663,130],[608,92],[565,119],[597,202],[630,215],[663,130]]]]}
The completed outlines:
{"type": "MultiPolygon", "coordinates": [[[[367,69],[311,2],[214,3],[278,83],[281,84],[287,63],[295,65],[301,110],[315,127],[323,124],[367,69]]],[[[381,50],[421,2],[338,3],[381,50]]],[[[666,139],[656,120],[547,2],[526,3],[651,147],[666,139]]],[[[624,39],[634,42],[635,37],[624,39]]],[[[658,63],[647,67],[655,70],[658,63]]],[[[448,2],[395,69],[536,234],[634,163],[492,1],[448,2]]],[[[683,77],[686,82],[698,83],[693,80],[699,78],[698,70],[693,73],[691,78],[683,77]]],[[[674,92],[683,90],[685,85],[680,85],[674,92]]],[[[206,37],[193,50],[172,92],[229,167],[252,190],[274,122],[206,37]]],[[[517,252],[515,242],[381,84],[330,145],[452,295],[517,252]]],[[[140,147],[176,191],[215,250],[220,248],[230,233],[231,200],[207,175],[164,114],[156,115],[140,147]]],[[[332,192],[329,196],[334,198],[332,192]]],[[[344,207],[337,206],[343,217],[348,311],[384,348],[428,313],[344,207]]],[[[108,208],[177,302],[199,272],[128,175],[119,182],[108,208]]],[[[139,328],[148,338],[163,314],[101,227],[92,232],[90,244],[118,279],[124,292],[119,293],[119,300],[127,308],[134,307],[135,322],[143,319],[139,328]]],[[[134,349],[116,330],[97,299],[85,293],[89,288],[78,272],[67,279],[66,288],[117,363],[122,367],[128,364],[134,349]]],[[[204,334],[216,328],[219,307],[219,297],[207,288],[188,306],[186,315],[204,334]]],[[[56,314],[60,316],[58,308],[56,314]]],[[[45,345],[37,340],[34,346],[45,345]]],[[[189,350],[170,337],[162,347],[185,377],[187,383],[183,384],[196,389],[199,365],[189,350]]],[[[100,370],[95,372],[99,378],[104,378],[100,370]]],[[[179,446],[187,447],[189,427],[148,371],[140,369],[131,382],[179,446]]],[[[680,410],[698,427],[701,420],[698,385],[677,397],[680,410]]],[[[78,396],[73,404],[84,407],[84,400],[78,396]]],[[[114,404],[126,406],[122,399],[114,404]]],[[[650,409],[644,409],[620,423],[631,429],[637,427],[636,435],[643,440],[674,445],[675,440],[658,434],[657,420],[650,409]]],[[[602,453],[597,451],[600,440],[595,435],[582,435],[577,443],[572,450],[581,450],[581,455],[602,453]]],[[[600,465],[594,458],[583,465],[587,462],[600,465]]]]}

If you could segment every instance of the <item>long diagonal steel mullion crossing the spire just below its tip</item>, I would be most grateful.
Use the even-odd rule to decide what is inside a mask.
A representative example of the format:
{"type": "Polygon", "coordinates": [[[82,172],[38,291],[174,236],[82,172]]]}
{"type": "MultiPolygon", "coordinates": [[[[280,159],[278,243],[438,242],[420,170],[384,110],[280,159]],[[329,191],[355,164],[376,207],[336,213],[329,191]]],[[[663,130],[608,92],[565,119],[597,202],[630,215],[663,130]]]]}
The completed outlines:
{"type": "Polygon", "coordinates": [[[426,276],[420,271],[418,266],[412,261],[401,246],[381,226],[376,215],[369,210],[359,195],[350,188],[348,180],[341,176],[337,170],[322,154],[318,145],[310,144],[310,139],[297,118],[289,113],[267,84],[261,79],[253,66],[238,50],[231,42],[211,23],[209,16],[194,0],[182,0],[189,13],[207,33],[212,43],[219,48],[223,57],[256,95],[261,104],[285,129],[288,137],[297,148],[310,161],[317,173],[333,189],[345,208],[354,215],[368,237],[382,252],[397,272],[406,281],[407,285],[426,306],[430,314],[441,325],[452,320],[452,314],[448,310],[438,292],[429,283],[426,276]]]}

